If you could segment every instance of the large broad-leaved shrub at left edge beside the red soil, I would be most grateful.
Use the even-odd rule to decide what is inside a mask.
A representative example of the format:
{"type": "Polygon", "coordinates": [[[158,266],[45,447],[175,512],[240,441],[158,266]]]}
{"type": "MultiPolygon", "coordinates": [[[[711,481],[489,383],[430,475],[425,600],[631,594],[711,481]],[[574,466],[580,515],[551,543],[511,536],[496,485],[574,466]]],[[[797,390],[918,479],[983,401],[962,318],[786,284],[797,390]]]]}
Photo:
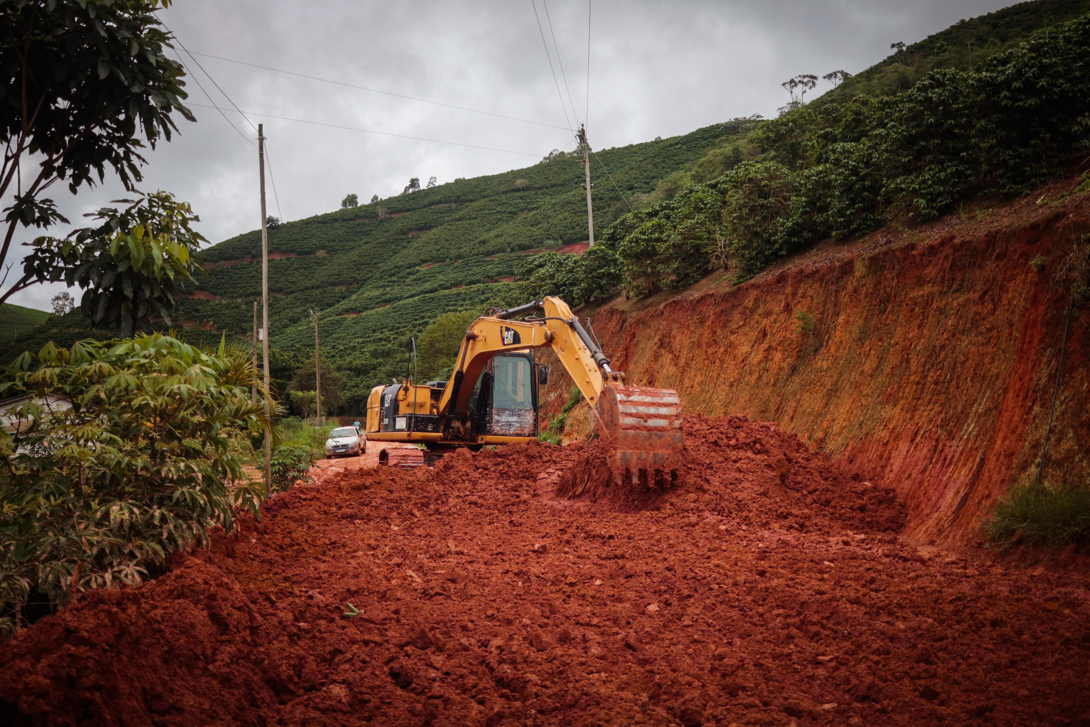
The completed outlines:
{"type": "Polygon", "coordinates": [[[0,431],[0,631],[32,594],[138,584],[213,525],[230,530],[232,506],[259,505],[253,487],[227,490],[246,480],[233,433],[265,424],[245,353],[159,335],[48,344],[11,377],[0,397],[32,398],[17,431],[0,431]]]}

